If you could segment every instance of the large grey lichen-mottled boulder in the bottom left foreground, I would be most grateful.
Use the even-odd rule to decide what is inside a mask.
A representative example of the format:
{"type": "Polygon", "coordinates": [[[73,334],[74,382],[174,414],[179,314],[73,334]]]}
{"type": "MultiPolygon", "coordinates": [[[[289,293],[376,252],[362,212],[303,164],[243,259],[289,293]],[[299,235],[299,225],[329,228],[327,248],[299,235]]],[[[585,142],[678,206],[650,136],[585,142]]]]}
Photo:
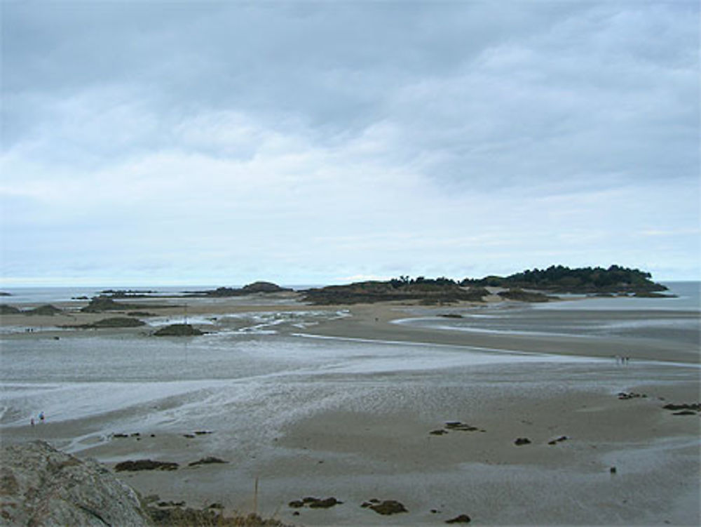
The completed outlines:
{"type": "Polygon", "coordinates": [[[149,526],[135,491],[95,461],[35,441],[0,451],[0,523],[149,526]]]}

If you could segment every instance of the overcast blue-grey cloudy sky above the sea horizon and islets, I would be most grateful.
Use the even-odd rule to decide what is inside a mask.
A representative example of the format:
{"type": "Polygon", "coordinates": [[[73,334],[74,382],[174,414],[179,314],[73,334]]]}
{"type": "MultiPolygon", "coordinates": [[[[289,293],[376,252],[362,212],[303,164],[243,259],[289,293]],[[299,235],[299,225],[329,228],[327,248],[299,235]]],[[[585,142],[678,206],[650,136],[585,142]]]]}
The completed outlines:
{"type": "Polygon", "coordinates": [[[696,0],[0,6],[0,285],[701,279],[696,0]]]}

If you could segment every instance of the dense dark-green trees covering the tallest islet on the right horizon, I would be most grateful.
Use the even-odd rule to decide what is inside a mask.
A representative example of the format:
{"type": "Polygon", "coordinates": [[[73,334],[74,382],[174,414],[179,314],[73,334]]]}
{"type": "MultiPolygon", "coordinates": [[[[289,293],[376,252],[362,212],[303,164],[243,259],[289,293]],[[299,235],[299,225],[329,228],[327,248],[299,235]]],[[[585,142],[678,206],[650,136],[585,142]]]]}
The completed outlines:
{"type": "Polygon", "coordinates": [[[510,276],[486,276],[482,279],[464,279],[463,286],[494,286],[505,288],[539,289],[550,293],[652,293],[667,288],[651,280],[652,275],[639,269],[618,265],[579,267],[570,269],[551,265],[547,269],[532,269],[510,276]]]}

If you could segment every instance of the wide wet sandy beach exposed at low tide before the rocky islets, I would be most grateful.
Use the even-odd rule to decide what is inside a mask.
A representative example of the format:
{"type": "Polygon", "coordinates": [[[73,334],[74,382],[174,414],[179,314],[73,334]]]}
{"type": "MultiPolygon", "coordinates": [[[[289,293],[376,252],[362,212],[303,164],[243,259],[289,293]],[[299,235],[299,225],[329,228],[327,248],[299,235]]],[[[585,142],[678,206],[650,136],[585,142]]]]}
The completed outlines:
{"type": "MultiPolygon", "coordinates": [[[[156,301],[139,302],[148,311],[156,301]]],[[[185,316],[182,301],[168,302],[177,307],[156,310],[158,323],[185,316]]],[[[437,525],[460,514],[475,525],[700,521],[699,414],[663,408],[699,401],[693,342],[436,329],[406,319],[475,306],[316,307],[278,295],[268,303],[188,299],[186,316],[210,334],[164,343],[149,336],[154,326],[57,329],[108,316],[78,305],[67,302],[60,307],[71,311],[56,316],[2,317],[4,405],[17,406],[6,408],[2,441],[45,439],[109,467],[179,463],[175,472],[118,472],[144,497],[217,502],[225,512],[255,509],[299,525],[437,525]],[[97,361],[112,364],[114,380],[85,373],[71,384],[57,373],[33,395],[23,374],[11,377],[21,350],[41,361],[57,345],[81,356],[109,349],[97,361]],[[118,373],[129,361],[117,358],[132,349],[163,354],[153,368],[165,373],[118,373]],[[621,355],[629,361],[619,363],[621,355]],[[238,361],[231,370],[229,360],[238,361]],[[91,406],[91,397],[100,402],[91,406]],[[30,427],[27,401],[55,410],[30,427]],[[189,466],[207,456],[226,463],[189,466]],[[288,505],[306,496],[343,503],[288,505]],[[362,507],[372,499],[398,500],[408,512],[362,507]]]]}

